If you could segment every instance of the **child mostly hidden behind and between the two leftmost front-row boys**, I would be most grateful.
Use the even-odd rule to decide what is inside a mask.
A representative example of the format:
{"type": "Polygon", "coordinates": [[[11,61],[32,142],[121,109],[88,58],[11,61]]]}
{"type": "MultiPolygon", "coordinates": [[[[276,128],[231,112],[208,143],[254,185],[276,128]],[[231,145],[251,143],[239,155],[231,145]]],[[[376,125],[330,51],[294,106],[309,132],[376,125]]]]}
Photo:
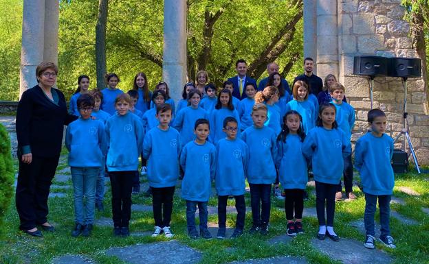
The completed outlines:
{"type": "MultiPolygon", "coordinates": [[[[89,93],[94,97],[94,109],[92,110],[92,116],[96,119],[102,121],[105,125],[107,119],[110,115],[103,110],[100,110],[100,105],[102,102],[102,93],[98,90],[91,91],[89,93]]],[[[106,166],[106,156],[104,155],[102,160],[102,165],[100,166],[100,173],[98,173],[97,185],[96,185],[96,208],[98,211],[104,211],[104,205],[102,203],[104,199],[104,171],[106,166]]]]}

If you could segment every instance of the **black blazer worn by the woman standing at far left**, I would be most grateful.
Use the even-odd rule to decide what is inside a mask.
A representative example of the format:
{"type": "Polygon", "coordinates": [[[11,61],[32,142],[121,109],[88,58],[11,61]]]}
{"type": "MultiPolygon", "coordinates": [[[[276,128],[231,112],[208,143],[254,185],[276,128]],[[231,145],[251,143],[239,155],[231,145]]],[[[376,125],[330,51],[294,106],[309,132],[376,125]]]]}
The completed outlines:
{"type": "Polygon", "coordinates": [[[26,145],[30,145],[34,156],[60,155],[64,125],[78,117],[69,115],[63,93],[58,89],[55,91],[58,105],[46,97],[39,85],[22,94],[17,110],[18,156],[22,155],[22,147],[26,145]]]}

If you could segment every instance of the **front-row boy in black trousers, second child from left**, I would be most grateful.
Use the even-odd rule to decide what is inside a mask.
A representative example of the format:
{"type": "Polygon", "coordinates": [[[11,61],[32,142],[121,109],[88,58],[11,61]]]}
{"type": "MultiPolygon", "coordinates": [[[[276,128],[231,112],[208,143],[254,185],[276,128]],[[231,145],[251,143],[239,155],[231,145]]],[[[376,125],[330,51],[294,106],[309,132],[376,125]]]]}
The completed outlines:
{"type": "Polygon", "coordinates": [[[113,235],[124,237],[129,236],[133,175],[144,138],[142,122],[129,112],[130,104],[129,95],[118,95],[115,99],[117,112],[107,119],[104,129],[109,143],[106,165],[112,192],[113,235]]]}

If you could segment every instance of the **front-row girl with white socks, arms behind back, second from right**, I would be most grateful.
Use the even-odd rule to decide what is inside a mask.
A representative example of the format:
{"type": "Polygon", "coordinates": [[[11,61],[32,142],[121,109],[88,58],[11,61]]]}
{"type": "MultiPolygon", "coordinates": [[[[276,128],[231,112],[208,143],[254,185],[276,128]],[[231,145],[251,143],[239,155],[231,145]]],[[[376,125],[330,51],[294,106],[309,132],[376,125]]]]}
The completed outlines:
{"type": "Polygon", "coordinates": [[[311,158],[313,164],[316,211],[319,221],[317,237],[323,240],[327,235],[333,241],[340,241],[333,231],[335,194],[344,169],[343,156],[350,155],[351,146],[344,132],[338,129],[335,118],[336,107],[331,103],[321,104],[316,128],[310,130],[305,137],[302,150],[307,158],[311,158]],[[329,157],[329,163],[326,157],[329,157]]]}

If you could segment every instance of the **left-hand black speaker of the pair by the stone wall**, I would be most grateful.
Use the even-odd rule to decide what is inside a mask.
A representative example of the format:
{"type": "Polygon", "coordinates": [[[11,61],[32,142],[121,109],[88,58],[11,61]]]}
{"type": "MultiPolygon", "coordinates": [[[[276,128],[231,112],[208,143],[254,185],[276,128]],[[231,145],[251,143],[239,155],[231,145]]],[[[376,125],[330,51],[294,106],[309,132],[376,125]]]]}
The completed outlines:
{"type": "Polygon", "coordinates": [[[355,56],[353,74],[369,76],[386,76],[388,58],[381,56],[355,56]]]}

